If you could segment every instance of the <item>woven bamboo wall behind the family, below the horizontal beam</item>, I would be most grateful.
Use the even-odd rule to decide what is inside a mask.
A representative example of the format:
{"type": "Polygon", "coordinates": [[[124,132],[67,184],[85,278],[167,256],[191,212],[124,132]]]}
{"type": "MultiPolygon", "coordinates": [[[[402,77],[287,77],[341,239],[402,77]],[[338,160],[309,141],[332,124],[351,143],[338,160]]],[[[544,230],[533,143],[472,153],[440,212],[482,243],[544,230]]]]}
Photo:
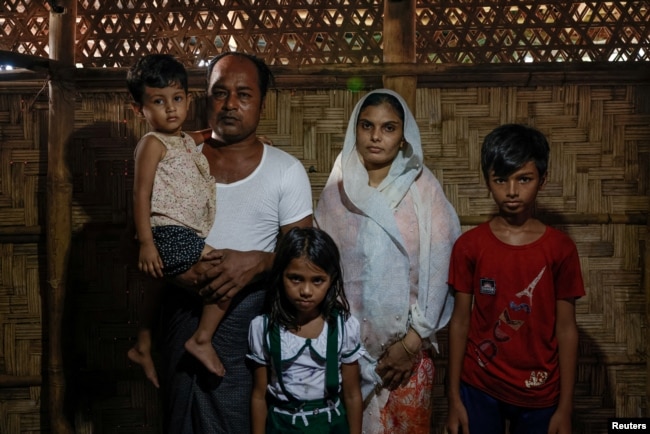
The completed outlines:
{"type": "MultiPolygon", "coordinates": [[[[41,414],[47,105],[37,88],[0,93],[0,433],[49,432],[41,414]],[[34,102],[35,101],[35,102],[34,102]],[[14,384],[3,376],[18,378],[14,384]],[[13,387],[7,387],[12,385],[13,387]]],[[[200,95],[198,95],[200,96],[200,95]]],[[[359,93],[271,92],[259,133],[301,159],[314,199],[341,149],[359,93]]],[[[200,101],[200,99],[199,99],[200,101]]],[[[203,126],[197,102],[186,127],[203,126]]],[[[78,433],[158,433],[160,400],[125,357],[141,288],[120,249],[131,209],[132,152],[146,126],[126,94],[78,96],[70,146],[75,237],[66,309],[66,369],[78,433]]],[[[605,433],[613,416],[647,416],[642,284],[650,167],[650,95],[631,85],[420,89],[415,114],[427,165],[465,222],[490,214],[482,137],[504,122],[534,125],[552,147],[540,211],[576,241],[587,297],[577,303],[575,432],[605,433]],[[580,218],[585,222],[580,223],[580,218]],[[596,223],[594,223],[596,222],[596,223]],[[609,223],[608,223],[609,222],[609,223]]],[[[438,361],[435,432],[446,414],[446,346],[438,361]]]]}

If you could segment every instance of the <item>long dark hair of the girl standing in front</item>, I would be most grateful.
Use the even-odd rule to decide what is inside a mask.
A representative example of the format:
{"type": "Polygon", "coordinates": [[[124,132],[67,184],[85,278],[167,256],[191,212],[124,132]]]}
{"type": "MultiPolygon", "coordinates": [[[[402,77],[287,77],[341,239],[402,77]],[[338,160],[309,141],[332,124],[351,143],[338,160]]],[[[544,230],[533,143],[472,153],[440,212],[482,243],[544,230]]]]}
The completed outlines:
{"type": "Polygon", "coordinates": [[[333,311],[337,309],[347,319],[350,316],[350,305],[343,290],[341,255],[336,243],[321,229],[296,227],[280,239],[275,249],[267,293],[269,329],[275,324],[288,330],[298,328],[296,310],[287,299],[283,283],[284,271],[292,260],[298,258],[307,259],[330,276],[331,284],[320,306],[323,318],[334,324],[336,317],[333,311]]]}

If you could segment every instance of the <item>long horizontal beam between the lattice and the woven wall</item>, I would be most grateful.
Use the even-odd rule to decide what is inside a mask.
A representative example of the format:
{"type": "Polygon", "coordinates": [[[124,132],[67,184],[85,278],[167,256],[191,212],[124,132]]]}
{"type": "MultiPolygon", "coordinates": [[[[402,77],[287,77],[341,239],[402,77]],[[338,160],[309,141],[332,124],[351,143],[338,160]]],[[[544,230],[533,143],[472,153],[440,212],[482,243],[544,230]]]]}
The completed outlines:
{"type": "MultiPolygon", "coordinates": [[[[350,77],[358,77],[365,89],[382,86],[382,76],[415,75],[418,88],[457,89],[467,87],[536,87],[582,85],[650,84],[648,66],[643,62],[489,64],[489,65],[274,65],[275,88],[283,90],[347,89],[350,77]]],[[[205,91],[205,69],[190,68],[192,90],[205,91]]],[[[69,74],[67,74],[69,75],[69,74]]],[[[60,76],[66,76],[61,73],[60,76]]],[[[126,93],[124,68],[80,68],[74,71],[77,90],[107,89],[126,93]]],[[[47,74],[28,70],[0,71],[0,92],[28,91],[42,87],[47,74]]]]}

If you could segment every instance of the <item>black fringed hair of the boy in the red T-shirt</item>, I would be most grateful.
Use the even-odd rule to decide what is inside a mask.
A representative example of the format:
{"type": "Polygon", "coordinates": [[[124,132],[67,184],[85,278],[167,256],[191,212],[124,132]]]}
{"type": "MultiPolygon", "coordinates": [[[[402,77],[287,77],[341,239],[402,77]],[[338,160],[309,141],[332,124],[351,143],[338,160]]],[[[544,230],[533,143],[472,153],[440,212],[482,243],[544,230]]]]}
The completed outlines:
{"type": "Polygon", "coordinates": [[[490,174],[508,176],[532,161],[540,180],[546,176],[549,155],[548,141],[540,131],[526,125],[501,125],[485,136],[481,146],[481,169],[485,182],[490,174]]]}

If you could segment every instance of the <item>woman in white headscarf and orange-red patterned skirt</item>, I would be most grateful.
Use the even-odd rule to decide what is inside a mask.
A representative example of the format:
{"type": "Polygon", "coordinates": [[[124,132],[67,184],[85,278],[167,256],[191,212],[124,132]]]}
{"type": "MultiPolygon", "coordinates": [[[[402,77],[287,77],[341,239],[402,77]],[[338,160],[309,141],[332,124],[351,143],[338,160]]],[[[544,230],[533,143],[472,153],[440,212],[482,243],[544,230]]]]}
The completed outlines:
{"type": "Polygon", "coordinates": [[[436,332],[451,315],[455,210],[424,166],[420,132],[388,89],[357,103],[315,212],[341,251],[345,292],[369,357],[363,430],[429,433],[436,332]]]}

